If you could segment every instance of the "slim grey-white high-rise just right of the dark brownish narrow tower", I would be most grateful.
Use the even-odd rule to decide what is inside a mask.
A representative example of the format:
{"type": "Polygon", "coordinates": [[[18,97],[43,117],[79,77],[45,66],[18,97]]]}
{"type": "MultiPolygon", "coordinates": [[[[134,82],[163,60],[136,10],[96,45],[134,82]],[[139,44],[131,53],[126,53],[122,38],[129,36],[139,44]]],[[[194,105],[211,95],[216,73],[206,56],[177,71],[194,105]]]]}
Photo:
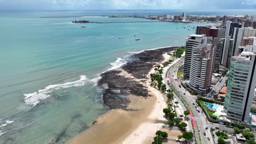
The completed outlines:
{"type": "Polygon", "coordinates": [[[223,65],[223,67],[229,68],[230,66],[233,47],[234,39],[230,39],[230,37],[225,38],[222,50],[222,59],[220,61],[220,64],[223,65]]]}

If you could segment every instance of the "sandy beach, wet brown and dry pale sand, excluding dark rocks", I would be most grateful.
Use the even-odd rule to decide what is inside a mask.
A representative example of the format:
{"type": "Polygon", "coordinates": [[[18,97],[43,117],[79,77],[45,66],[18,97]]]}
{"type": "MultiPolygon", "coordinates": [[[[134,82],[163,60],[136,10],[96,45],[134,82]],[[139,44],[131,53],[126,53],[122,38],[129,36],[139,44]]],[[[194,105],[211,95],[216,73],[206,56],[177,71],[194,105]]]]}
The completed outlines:
{"type": "MultiPolygon", "coordinates": [[[[168,59],[164,55],[159,63],[168,59]]],[[[156,65],[158,63],[154,63],[156,65]]],[[[153,65],[152,65],[153,66],[153,65]]],[[[162,109],[166,107],[166,97],[157,89],[150,87],[150,76],[154,68],[150,68],[147,76],[137,79],[136,75],[129,73],[122,68],[117,69],[118,76],[123,76],[129,81],[135,81],[147,89],[150,97],[138,97],[130,94],[127,98],[130,103],[124,109],[112,109],[97,119],[83,133],[69,140],[68,144],[79,143],[152,143],[156,130],[161,129],[162,124],[156,123],[158,119],[166,120],[162,109]]],[[[117,92],[117,91],[115,91],[117,92]]],[[[121,91],[118,91],[120,93],[121,91]]]]}

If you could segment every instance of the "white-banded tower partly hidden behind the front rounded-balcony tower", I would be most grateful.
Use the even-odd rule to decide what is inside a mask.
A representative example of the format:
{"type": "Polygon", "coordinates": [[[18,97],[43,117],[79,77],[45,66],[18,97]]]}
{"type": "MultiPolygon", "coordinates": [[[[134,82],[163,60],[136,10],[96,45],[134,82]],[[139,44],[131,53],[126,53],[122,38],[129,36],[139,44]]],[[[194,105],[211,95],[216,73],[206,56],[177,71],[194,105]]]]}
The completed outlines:
{"type": "Polygon", "coordinates": [[[199,44],[206,44],[207,37],[206,35],[199,34],[191,34],[188,36],[185,45],[185,61],[184,61],[184,78],[189,79],[190,75],[190,66],[191,66],[191,57],[193,46],[197,46],[199,44]]]}

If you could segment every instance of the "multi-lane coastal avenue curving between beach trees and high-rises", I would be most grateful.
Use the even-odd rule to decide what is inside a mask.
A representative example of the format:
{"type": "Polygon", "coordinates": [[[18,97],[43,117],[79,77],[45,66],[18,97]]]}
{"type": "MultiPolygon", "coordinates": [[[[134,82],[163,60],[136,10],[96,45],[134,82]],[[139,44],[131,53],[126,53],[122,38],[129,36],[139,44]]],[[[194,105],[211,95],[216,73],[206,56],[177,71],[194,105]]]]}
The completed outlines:
{"type": "Polygon", "coordinates": [[[191,95],[189,97],[187,97],[187,95],[189,95],[188,92],[186,92],[183,87],[182,88],[178,87],[180,85],[180,83],[177,81],[177,74],[175,72],[177,72],[177,68],[182,64],[183,61],[184,61],[184,57],[181,58],[177,63],[173,64],[168,70],[164,71],[164,82],[165,82],[167,88],[170,88],[167,85],[167,79],[166,79],[166,74],[168,74],[167,77],[170,77],[169,80],[170,80],[171,84],[174,86],[174,88],[178,92],[181,93],[182,97],[185,99],[185,101],[187,101],[189,107],[191,108],[191,111],[193,111],[194,118],[199,126],[199,130],[195,129],[195,136],[196,136],[197,143],[200,143],[198,132],[200,132],[200,136],[201,136],[201,140],[202,140],[203,144],[204,143],[214,143],[212,136],[211,136],[211,131],[210,131],[210,127],[214,127],[214,125],[212,123],[207,124],[206,122],[204,122],[203,116],[202,116],[203,114],[197,112],[197,110],[195,109],[193,103],[195,103],[196,97],[192,97],[191,95]],[[185,93],[185,95],[183,93],[185,93]],[[205,130],[206,127],[208,127],[207,130],[205,130]],[[203,133],[206,133],[206,136],[204,136],[203,133]],[[210,141],[207,140],[207,137],[210,138],[210,141]]]}

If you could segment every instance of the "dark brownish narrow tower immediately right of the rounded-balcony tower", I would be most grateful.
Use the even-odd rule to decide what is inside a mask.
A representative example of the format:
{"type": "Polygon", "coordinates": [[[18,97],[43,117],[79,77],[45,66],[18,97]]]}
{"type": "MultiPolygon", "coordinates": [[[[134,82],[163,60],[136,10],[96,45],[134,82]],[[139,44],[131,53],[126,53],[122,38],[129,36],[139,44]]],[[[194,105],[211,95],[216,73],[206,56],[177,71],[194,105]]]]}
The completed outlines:
{"type": "Polygon", "coordinates": [[[214,38],[212,44],[213,44],[213,47],[216,47],[217,49],[215,63],[214,63],[214,73],[218,73],[220,60],[222,58],[222,49],[223,49],[224,39],[214,38]]]}

